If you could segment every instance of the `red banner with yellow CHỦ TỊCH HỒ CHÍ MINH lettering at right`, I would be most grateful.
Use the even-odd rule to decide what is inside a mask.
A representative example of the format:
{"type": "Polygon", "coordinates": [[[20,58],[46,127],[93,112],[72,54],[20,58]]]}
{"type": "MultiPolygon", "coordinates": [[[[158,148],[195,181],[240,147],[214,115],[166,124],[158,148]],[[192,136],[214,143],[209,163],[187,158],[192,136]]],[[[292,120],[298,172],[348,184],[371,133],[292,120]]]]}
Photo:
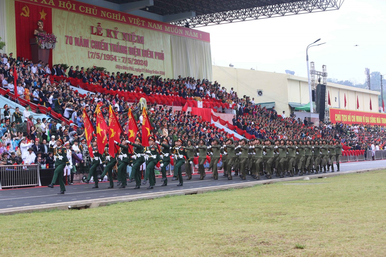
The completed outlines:
{"type": "Polygon", "coordinates": [[[330,108],[330,122],[345,124],[370,124],[386,126],[386,113],[362,112],[330,108]]]}

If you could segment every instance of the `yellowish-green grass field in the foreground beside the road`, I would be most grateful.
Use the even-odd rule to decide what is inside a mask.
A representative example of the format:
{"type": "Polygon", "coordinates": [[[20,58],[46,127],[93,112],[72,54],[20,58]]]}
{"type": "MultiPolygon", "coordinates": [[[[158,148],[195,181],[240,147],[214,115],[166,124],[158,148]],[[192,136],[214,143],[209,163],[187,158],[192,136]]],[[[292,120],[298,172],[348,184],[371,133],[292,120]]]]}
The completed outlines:
{"type": "Polygon", "coordinates": [[[385,256],[385,171],[0,216],[2,256],[385,256]]]}

